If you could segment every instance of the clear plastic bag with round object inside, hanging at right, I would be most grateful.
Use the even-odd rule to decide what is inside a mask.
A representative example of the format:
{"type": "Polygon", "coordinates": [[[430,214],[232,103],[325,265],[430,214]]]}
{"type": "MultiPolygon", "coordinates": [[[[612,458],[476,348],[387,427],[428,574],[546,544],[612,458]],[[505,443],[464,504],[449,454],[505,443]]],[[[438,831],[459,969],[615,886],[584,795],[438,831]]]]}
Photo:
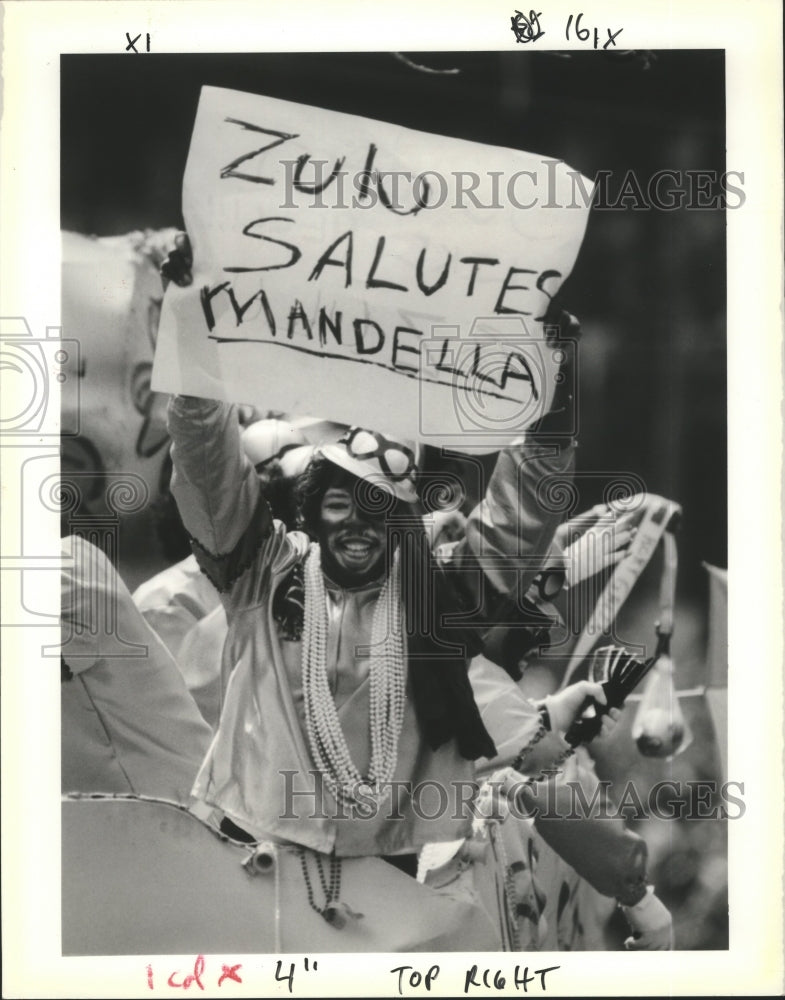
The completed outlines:
{"type": "Polygon", "coordinates": [[[646,683],[632,725],[632,738],[644,757],[673,757],[692,742],[673,682],[673,660],[667,653],[657,659],[646,683]]]}

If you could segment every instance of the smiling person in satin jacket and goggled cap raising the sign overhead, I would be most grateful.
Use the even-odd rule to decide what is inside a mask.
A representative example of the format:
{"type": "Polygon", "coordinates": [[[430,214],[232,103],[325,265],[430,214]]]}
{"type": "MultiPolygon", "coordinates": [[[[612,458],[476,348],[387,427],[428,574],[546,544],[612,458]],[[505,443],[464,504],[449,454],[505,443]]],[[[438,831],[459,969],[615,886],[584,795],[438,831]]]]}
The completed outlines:
{"type": "MultiPolygon", "coordinates": [[[[163,273],[190,281],[185,239],[163,273]]],[[[500,454],[446,567],[427,544],[405,443],[352,428],[323,446],[299,486],[306,530],[287,531],[243,455],[234,408],[172,397],[172,492],[222,594],[234,664],[194,793],[231,829],[334,858],[409,856],[407,867],[425,843],[468,832],[474,761],[495,747],[467,662],[482,615],[512,587],[525,592],[557,527],[536,486],[572,467],[563,384],[500,454]],[[473,628],[449,624],[461,613],[473,628]]],[[[571,719],[589,697],[604,699],[580,682],[551,710],[571,719]]],[[[562,741],[542,735],[556,757],[562,741]]]]}

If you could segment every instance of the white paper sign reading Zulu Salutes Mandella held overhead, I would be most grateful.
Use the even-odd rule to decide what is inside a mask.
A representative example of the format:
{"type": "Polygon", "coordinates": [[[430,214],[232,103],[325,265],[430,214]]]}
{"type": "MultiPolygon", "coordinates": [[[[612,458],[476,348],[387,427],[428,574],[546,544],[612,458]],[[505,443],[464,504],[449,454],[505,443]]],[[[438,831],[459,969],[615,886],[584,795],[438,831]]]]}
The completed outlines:
{"type": "MultiPolygon", "coordinates": [[[[547,411],[586,224],[555,160],[206,87],[153,386],[453,447],[547,411]]],[[[590,188],[591,185],[588,185],[590,188]]]]}

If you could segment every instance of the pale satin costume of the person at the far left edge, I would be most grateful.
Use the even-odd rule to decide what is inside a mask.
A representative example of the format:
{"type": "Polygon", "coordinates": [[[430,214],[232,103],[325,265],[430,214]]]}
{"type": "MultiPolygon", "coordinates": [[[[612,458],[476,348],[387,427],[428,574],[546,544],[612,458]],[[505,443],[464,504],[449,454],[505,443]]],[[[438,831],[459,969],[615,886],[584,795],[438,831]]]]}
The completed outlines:
{"type": "Polygon", "coordinates": [[[63,793],[188,806],[210,727],[104,553],[72,535],[62,556],[63,793]]]}

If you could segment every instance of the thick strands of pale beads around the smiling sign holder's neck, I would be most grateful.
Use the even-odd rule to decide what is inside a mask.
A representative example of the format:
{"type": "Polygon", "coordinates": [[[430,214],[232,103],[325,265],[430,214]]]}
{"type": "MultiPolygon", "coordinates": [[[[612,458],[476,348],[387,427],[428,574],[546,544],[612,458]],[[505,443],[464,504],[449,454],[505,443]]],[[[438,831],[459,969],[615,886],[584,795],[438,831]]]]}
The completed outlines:
{"type": "Polygon", "coordinates": [[[305,563],[305,616],[302,644],[305,727],[314,763],[340,802],[357,804],[361,790],[383,797],[395,773],[403,726],[406,649],[396,550],[390,572],[376,600],[370,646],[371,760],[367,776],[349,753],[327,673],[327,597],[321,553],[312,544],[305,563]],[[388,786],[388,787],[385,787],[388,786]]]}

